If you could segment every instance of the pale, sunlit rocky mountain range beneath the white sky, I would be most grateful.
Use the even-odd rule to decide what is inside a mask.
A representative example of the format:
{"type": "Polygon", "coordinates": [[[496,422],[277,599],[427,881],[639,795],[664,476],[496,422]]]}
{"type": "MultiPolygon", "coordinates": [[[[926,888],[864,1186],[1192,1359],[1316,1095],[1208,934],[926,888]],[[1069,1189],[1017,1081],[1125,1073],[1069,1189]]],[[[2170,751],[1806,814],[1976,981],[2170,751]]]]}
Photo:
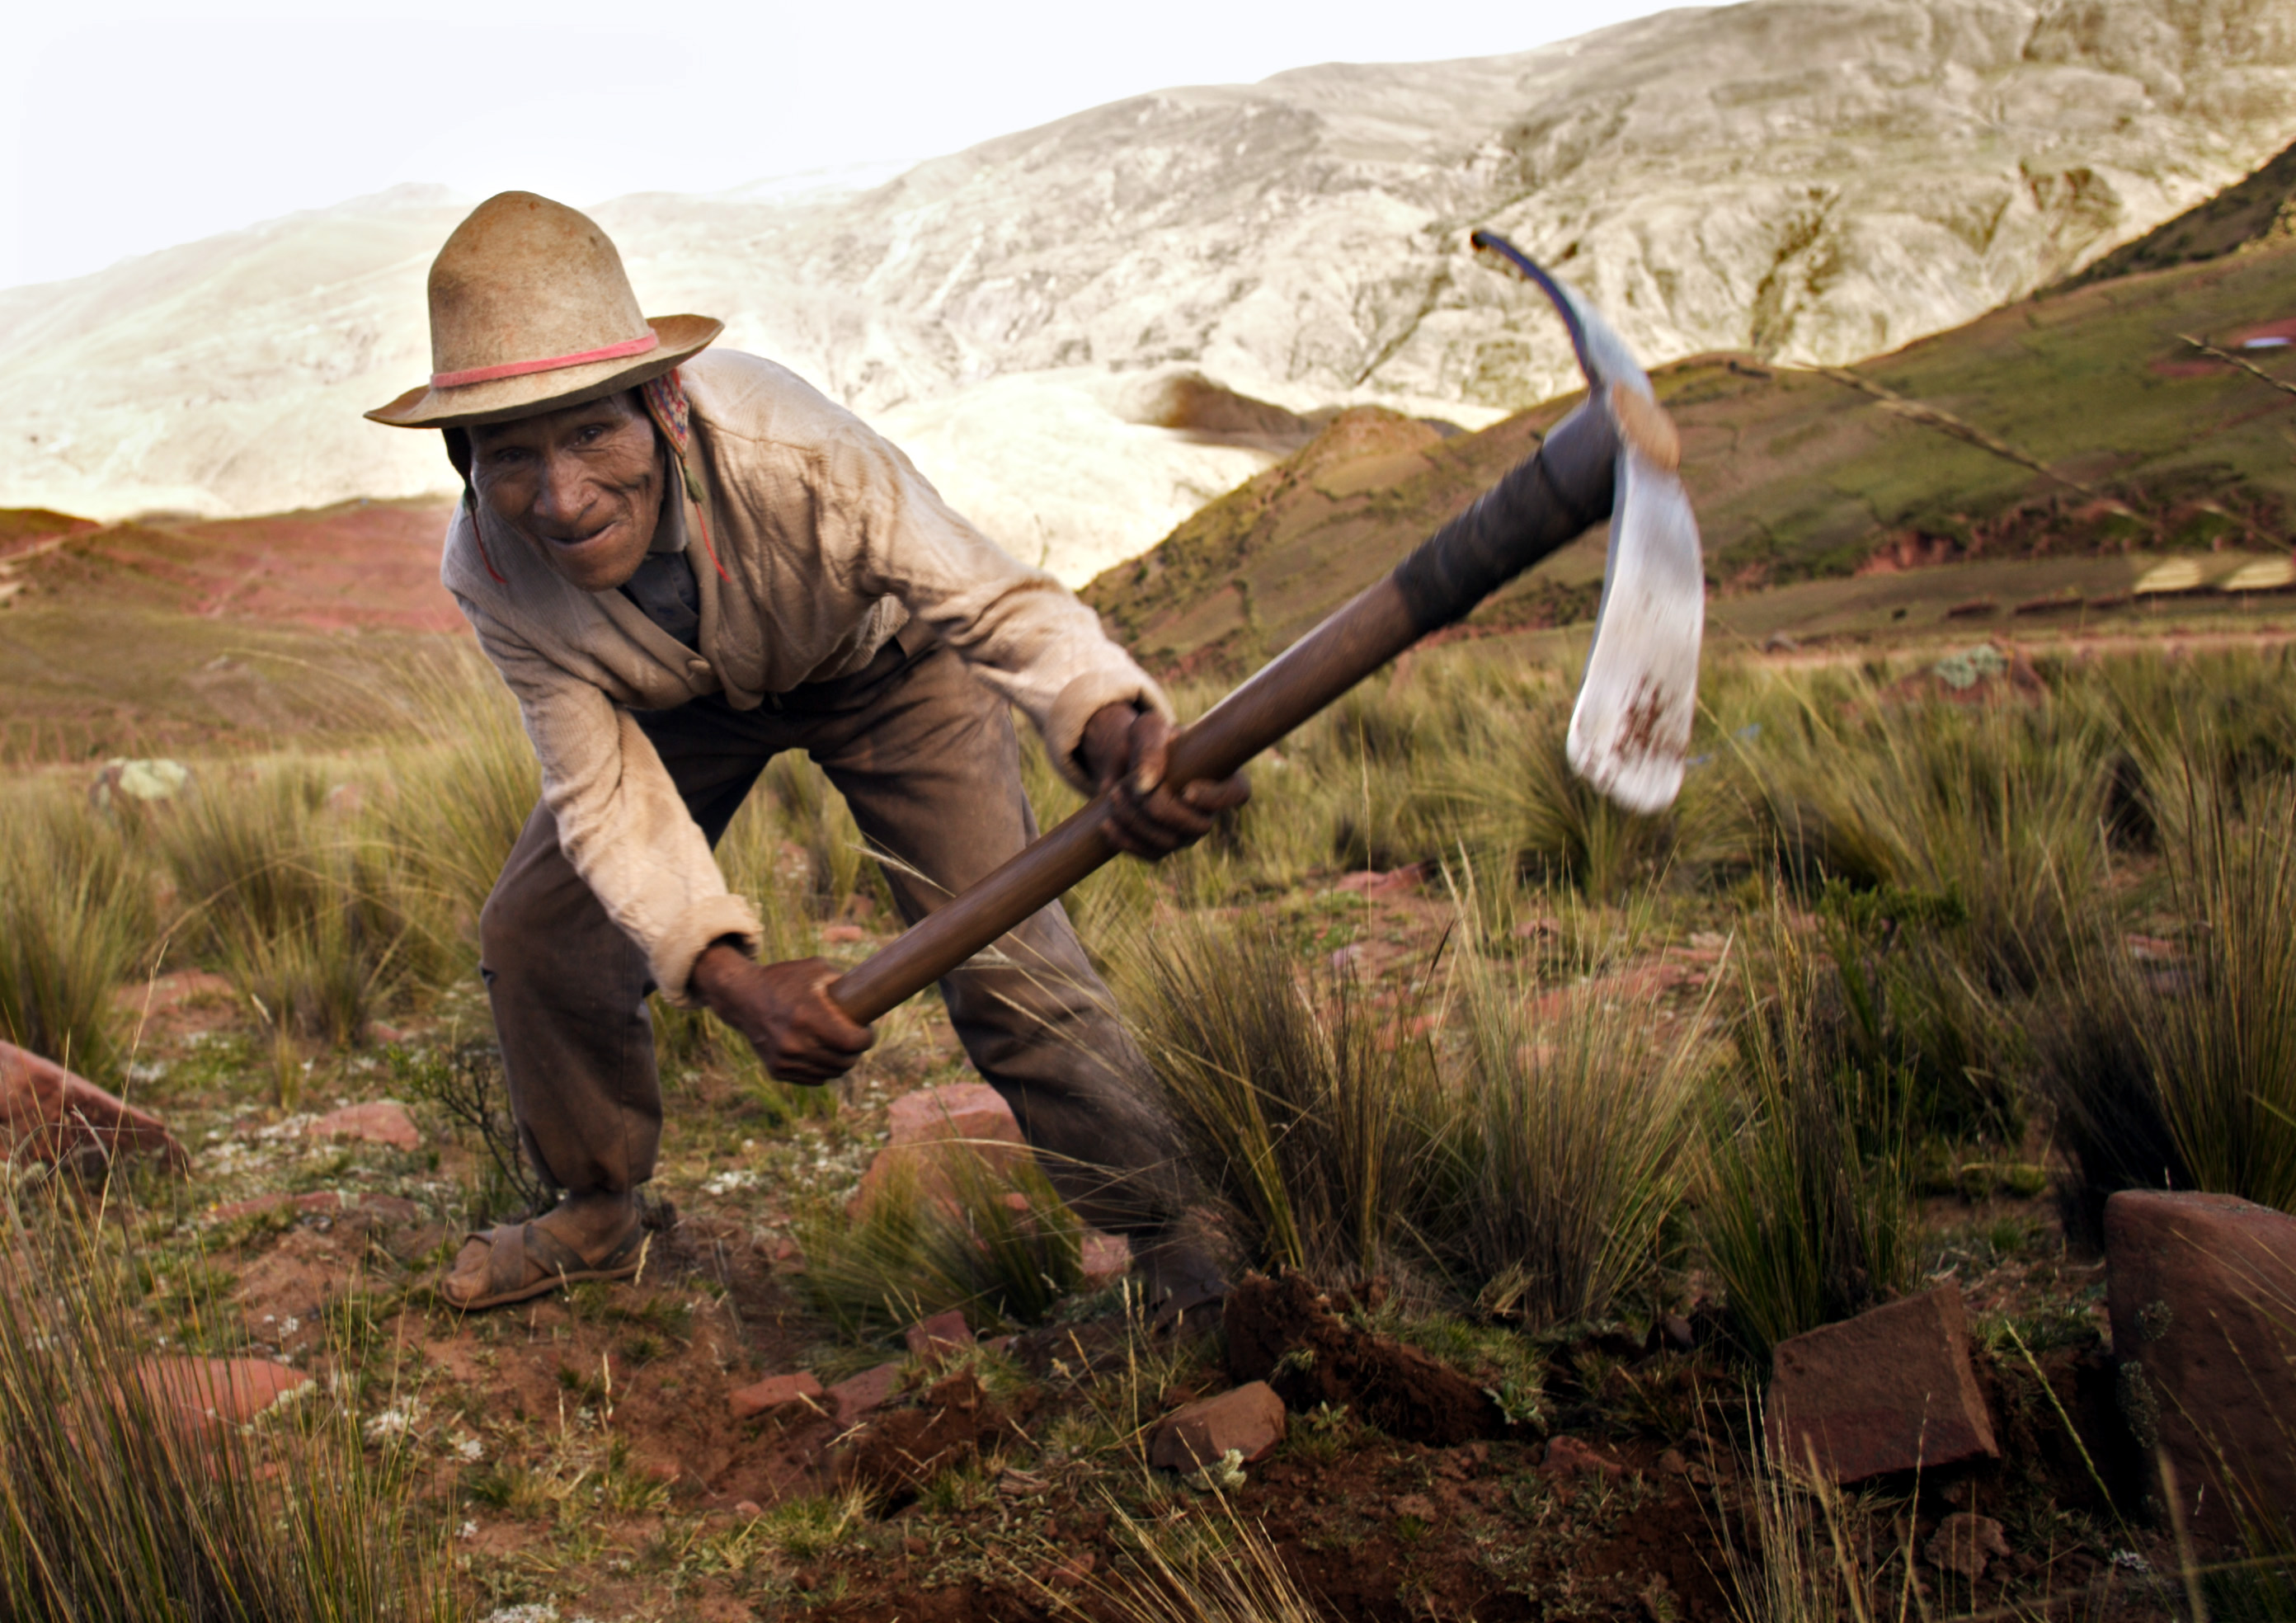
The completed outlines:
{"type": "MultiPolygon", "coordinates": [[[[2287,0],[1752,0],[1137,96],[868,191],[595,213],[647,308],[723,317],[1077,581],[1274,455],[1159,427],[1143,379],[1469,427],[1568,388],[1474,225],[1653,363],[1835,363],[2057,280],[2291,138],[2287,0]]],[[[429,436],[358,411],[427,372],[422,269],[464,207],[402,188],[0,294],[0,503],[441,489],[429,436]]]]}

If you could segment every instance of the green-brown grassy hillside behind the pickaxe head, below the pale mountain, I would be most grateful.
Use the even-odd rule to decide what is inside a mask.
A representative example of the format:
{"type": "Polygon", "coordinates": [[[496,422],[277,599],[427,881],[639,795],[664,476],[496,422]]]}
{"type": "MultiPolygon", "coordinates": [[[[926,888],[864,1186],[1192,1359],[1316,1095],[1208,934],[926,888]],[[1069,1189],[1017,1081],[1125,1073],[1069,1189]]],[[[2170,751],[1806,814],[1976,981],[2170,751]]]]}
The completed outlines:
{"type": "MultiPolygon", "coordinates": [[[[1534,303],[1529,289],[1522,298],[1534,303]]],[[[1848,599],[1756,588],[1860,578],[1869,585],[1853,597],[1869,620],[1919,627],[1954,608],[1979,618],[1970,599],[1988,590],[2000,611],[2069,583],[2110,597],[2161,551],[2285,553],[2296,397],[2197,356],[2179,335],[2241,342],[2296,331],[2291,319],[2296,241],[2282,241],[2023,301],[1857,367],[1795,370],[1743,354],[1662,367],[1653,381],[1683,429],[1708,576],[1738,599],[1720,601],[1717,620],[1789,629],[1800,622],[1786,601],[1802,604],[1807,622],[1848,599]],[[1981,560],[1993,567],[1981,585],[1940,572],[1910,590],[1874,590],[1981,560]],[[2000,574],[2002,562],[2018,567],[2000,574]]],[[[2266,365],[2273,356],[2285,351],[2257,351],[2266,365]]],[[[2291,372],[2282,360],[2280,374],[2291,372]]],[[[1389,569],[1573,404],[1458,438],[1394,413],[1350,413],[1102,574],[1086,599],[1166,668],[1256,663],[1389,569]]],[[[1476,624],[1582,620],[1600,567],[1596,533],[1476,624]]]]}

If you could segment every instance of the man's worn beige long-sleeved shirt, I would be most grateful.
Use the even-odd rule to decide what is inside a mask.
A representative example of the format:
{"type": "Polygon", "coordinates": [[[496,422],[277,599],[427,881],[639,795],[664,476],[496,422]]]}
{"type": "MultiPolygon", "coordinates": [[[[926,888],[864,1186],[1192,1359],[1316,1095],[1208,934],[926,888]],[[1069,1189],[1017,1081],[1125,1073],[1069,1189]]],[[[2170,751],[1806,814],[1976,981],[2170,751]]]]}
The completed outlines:
{"type": "Polygon", "coordinates": [[[712,349],[680,376],[707,500],[682,514],[689,537],[707,535],[707,551],[689,553],[700,647],[622,592],[567,583],[471,503],[448,528],[441,578],[519,700],[567,861],[664,992],[687,1001],[703,948],[755,946],[758,918],[726,888],[634,709],[705,693],[748,709],[852,675],[912,615],[1035,723],[1070,778],[1102,705],[1171,705],[1091,608],[951,512],[900,450],[792,372],[712,349]]]}

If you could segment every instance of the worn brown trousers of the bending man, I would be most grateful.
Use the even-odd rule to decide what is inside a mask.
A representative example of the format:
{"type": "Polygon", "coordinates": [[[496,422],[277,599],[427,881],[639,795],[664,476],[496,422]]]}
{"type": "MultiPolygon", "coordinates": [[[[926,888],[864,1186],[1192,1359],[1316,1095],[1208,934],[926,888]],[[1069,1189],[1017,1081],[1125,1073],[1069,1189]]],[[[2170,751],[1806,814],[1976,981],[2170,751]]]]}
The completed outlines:
{"type": "MultiPolygon", "coordinates": [[[[765,764],[806,751],[891,859],[884,875],[912,923],[1035,838],[1013,716],[939,643],[914,654],[889,643],[859,675],[758,709],[705,698],[638,723],[712,845],[765,764]]],[[[546,806],[487,898],[480,948],[528,1157],[576,1194],[652,1178],[652,976],[560,854],[546,806]]],[[[941,996],[1061,1196],[1111,1233],[1166,1228],[1182,1207],[1171,1127],[1148,1104],[1146,1065],[1061,904],[941,980],[941,996]]]]}

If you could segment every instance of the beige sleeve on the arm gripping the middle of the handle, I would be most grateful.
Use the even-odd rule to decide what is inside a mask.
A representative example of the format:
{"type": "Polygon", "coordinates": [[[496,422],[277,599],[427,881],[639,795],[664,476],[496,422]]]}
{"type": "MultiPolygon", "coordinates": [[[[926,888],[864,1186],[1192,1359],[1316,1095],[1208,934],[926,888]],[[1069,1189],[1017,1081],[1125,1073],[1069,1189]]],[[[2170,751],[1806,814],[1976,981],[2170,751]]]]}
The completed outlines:
{"type": "Polygon", "coordinates": [[[941,500],[909,459],[870,429],[824,448],[817,510],[843,535],[852,585],[898,597],[992,689],[1035,723],[1052,764],[1091,790],[1077,746],[1107,705],[1171,716],[1171,700],[1100,629],[1100,618],[1042,569],[1019,562],[941,500]]]}

